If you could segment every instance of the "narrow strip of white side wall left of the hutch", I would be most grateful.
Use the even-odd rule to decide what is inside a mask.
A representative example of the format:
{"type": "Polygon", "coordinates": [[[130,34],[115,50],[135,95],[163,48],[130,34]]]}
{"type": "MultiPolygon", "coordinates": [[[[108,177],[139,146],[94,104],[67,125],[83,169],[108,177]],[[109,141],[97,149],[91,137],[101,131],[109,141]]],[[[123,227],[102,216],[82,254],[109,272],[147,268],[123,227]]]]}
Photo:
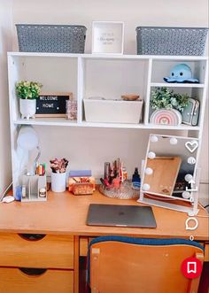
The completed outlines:
{"type": "Polygon", "coordinates": [[[0,0],[0,196],[12,178],[6,52],[12,50],[12,1],[0,0]]]}

